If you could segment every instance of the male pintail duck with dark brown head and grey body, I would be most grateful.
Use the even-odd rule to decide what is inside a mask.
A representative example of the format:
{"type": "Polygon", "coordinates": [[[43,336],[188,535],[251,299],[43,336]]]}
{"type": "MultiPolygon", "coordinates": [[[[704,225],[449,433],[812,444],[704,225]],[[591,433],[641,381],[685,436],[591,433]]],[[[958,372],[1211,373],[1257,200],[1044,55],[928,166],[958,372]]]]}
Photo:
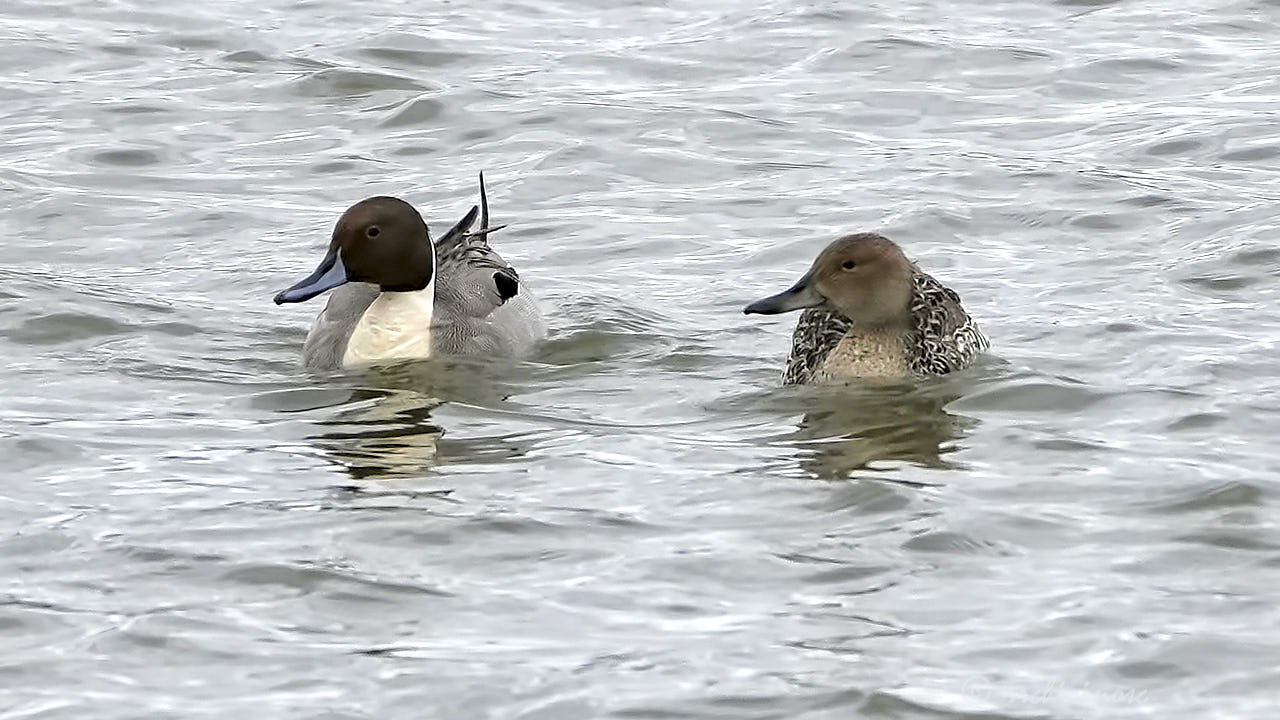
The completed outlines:
{"type": "Polygon", "coordinates": [[[351,206],[311,275],[275,296],[302,302],[334,290],[302,346],[316,370],[434,355],[516,356],[547,337],[534,296],[488,243],[489,200],[439,242],[412,205],[370,197],[351,206]],[[340,286],[340,287],[339,287],[340,286]]]}

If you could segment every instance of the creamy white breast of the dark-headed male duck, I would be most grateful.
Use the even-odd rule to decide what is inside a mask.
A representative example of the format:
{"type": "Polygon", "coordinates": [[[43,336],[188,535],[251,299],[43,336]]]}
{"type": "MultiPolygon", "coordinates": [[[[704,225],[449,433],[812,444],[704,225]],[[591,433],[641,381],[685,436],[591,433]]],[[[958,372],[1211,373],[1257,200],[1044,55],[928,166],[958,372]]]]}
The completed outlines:
{"type": "Polygon", "coordinates": [[[424,290],[380,293],[356,323],[342,365],[430,357],[434,307],[434,278],[424,290]]]}

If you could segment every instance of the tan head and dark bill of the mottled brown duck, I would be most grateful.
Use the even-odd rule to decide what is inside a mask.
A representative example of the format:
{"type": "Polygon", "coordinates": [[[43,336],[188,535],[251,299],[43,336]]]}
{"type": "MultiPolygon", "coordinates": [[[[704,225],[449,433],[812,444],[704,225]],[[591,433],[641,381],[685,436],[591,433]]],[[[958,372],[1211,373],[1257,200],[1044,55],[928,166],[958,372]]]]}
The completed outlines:
{"type": "Polygon", "coordinates": [[[836,240],[790,290],[756,300],[744,313],[773,315],[826,306],[863,328],[906,325],[911,319],[911,261],[884,236],[836,240]]]}

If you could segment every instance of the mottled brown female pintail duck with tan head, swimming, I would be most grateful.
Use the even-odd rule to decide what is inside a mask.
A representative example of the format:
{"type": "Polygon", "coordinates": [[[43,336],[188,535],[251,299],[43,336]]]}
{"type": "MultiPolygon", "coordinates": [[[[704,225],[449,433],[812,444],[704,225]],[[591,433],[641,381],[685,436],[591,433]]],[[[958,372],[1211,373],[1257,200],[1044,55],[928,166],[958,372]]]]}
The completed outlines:
{"type": "Polygon", "coordinates": [[[744,311],[800,309],[783,384],[945,375],[989,345],[955,291],[876,233],[836,240],[800,282],[744,311]]]}

